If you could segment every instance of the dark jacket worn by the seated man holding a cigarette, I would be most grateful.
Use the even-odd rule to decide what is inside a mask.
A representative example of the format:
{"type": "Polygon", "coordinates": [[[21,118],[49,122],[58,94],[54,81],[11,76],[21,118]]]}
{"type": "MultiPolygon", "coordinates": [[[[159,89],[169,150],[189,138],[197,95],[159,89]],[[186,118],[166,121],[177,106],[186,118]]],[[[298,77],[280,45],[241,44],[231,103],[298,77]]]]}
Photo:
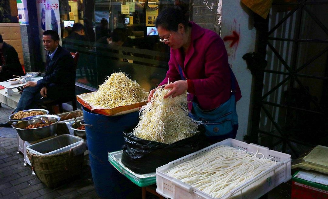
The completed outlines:
{"type": "Polygon", "coordinates": [[[58,45],[52,60],[49,52],[46,58],[47,66],[43,79],[37,81],[40,88],[47,87],[47,96],[54,100],[64,100],[75,96],[76,66],[71,53],[58,45]]]}

